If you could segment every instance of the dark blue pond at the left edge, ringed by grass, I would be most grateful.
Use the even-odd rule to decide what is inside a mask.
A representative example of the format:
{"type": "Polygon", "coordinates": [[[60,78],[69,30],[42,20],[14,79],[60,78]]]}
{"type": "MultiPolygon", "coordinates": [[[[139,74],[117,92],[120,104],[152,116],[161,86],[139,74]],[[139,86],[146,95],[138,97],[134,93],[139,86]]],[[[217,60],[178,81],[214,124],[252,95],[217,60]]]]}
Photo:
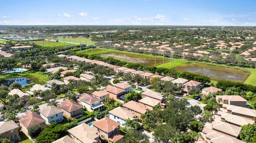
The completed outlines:
{"type": "Polygon", "coordinates": [[[5,86],[8,86],[10,88],[10,85],[13,82],[18,82],[18,83],[21,84],[21,86],[25,86],[25,85],[33,83],[31,79],[21,77],[21,78],[11,78],[11,79],[1,79],[0,80],[0,85],[5,85],[5,86]]]}

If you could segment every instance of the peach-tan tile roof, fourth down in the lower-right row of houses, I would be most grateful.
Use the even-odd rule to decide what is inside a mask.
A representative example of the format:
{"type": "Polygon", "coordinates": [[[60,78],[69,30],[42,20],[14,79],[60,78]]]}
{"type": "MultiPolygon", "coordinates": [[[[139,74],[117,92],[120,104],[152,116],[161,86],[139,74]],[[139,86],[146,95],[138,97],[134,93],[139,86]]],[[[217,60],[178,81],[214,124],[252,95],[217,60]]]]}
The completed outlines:
{"type": "Polygon", "coordinates": [[[242,127],[238,127],[236,125],[232,125],[230,123],[226,123],[224,121],[215,120],[212,122],[212,129],[216,131],[220,131],[227,135],[232,135],[234,137],[238,137],[239,132],[242,130],[242,127]]]}

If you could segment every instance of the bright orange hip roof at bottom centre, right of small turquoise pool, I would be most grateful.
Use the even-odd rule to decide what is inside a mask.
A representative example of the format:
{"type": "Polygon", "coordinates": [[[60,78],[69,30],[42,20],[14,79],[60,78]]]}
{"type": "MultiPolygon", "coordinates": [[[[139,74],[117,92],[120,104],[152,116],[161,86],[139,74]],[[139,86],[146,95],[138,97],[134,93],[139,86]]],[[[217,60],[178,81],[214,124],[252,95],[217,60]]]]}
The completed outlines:
{"type": "Polygon", "coordinates": [[[110,119],[110,118],[102,118],[94,123],[93,126],[101,129],[104,132],[109,133],[110,131],[114,131],[114,129],[119,128],[120,123],[110,119]]]}

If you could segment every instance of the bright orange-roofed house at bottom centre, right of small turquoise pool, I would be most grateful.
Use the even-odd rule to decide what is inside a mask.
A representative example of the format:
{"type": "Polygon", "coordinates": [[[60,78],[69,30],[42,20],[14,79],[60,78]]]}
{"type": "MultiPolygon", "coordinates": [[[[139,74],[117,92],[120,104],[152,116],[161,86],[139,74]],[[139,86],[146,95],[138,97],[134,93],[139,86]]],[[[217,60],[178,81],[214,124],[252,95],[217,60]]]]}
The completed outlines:
{"type": "Polygon", "coordinates": [[[120,135],[120,123],[113,121],[110,118],[102,118],[94,123],[92,123],[93,128],[99,131],[101,139],[107,139],[108,141],[118,141],[124,137],[120,135]]]}

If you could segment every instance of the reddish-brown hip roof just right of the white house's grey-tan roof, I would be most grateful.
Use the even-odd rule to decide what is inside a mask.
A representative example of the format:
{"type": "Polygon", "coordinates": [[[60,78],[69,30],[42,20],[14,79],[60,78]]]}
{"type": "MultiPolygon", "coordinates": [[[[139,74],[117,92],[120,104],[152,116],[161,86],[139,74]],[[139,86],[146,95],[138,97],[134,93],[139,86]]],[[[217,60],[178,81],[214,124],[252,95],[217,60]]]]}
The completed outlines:
{"type": "Polygon", "coordinates": [[[64,103],[62,103],[59,107],[68,112],[73,112],[73,111],[83,108],[82,105],[80,105],[72,100],[68,100],[68,99],[64,100],[64,103]]]}

